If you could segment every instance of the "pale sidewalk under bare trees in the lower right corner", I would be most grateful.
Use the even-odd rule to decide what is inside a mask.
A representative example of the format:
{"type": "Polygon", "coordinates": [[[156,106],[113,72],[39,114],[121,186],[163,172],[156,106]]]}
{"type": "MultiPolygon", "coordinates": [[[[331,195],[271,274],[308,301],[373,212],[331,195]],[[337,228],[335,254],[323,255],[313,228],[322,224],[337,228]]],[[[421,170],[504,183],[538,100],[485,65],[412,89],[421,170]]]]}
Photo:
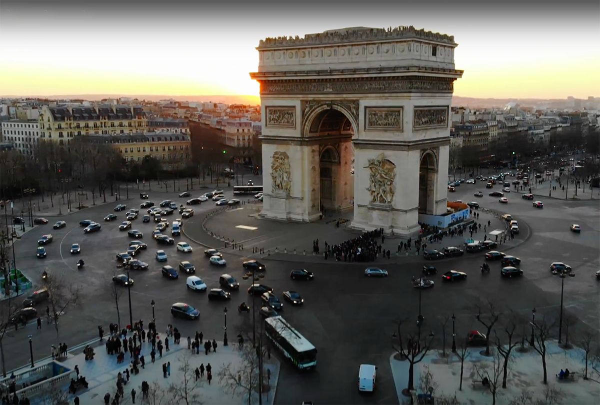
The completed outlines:
{"type": "MultiPolygon", "coordinates": [[[[511,353],[511,362],[508,367],[508,379],[506,389],[502,388],[502,368],[500,368],[500,377],[498,380],[498,390],[496,397],[497,405],[506,405],[514,400],[522,392],[527,391],[533,397],[544,398],[546,388],[555,388],[562,393],[564,403],[576,403],[578,405],[592,405],[598,403],[600,397],[600,385],[593,380],[584,380],[583,372],[585,369],[585,352],[578,348],[565,350],[559,347],[555,341],[547,342],[547,371],[548,385],[542,384],[543,369],[542,358],[535,350],[521,353],[515,347],[511,353]],[[561,369],[568,368],[574,373],[574,380],[558,380],[556,374],[561,369]]],[[[527,347],[527,346],[526,346],[527,347]]],[[[485,348],[483,348],[485,350],[485,348]]],[[[449,350],[450,356],[442,358],[437,351],[428,353],[422,362],[415,364],[415,389],[419,394],[421,376],[427,370],[433,374],[434,396],[454,397],[456,395],[460,403],[489,404],[492,396],[488,389],[481,385],[481,377],[476,374],[474,364],[487,365],[493,368],[491,357],[484,357],[480,354],[482,347],[473,347],[468,350],[469,357],[464,361],[463,389],[459,391],[460,383],[460,359],[453,355],[449,350]],[[474,383],[479,382],[479,383],[474,383]]],[[[460,352],[460,350],[459,350],[460,352]]],[[[501,358],[502,360],[502,358],[501,358]]],[[[409,362],[398,361],[394,355],[390,357],[390,366],[394,383],[398,395],[398,402],[403,403],[407,400],[402,390],[406,388],[409,377],[409,362]]],[[[492,370],[488,369],[490,375],[492,370]]],[[[592,379],[599,377],[598,373],[592,370],[588,365],[588,376],[592,379]]],[[[529,402],[527,402],[529,403],[529,402]]],[[[543,403],[543,402],[542,402],[543,403]]]]}

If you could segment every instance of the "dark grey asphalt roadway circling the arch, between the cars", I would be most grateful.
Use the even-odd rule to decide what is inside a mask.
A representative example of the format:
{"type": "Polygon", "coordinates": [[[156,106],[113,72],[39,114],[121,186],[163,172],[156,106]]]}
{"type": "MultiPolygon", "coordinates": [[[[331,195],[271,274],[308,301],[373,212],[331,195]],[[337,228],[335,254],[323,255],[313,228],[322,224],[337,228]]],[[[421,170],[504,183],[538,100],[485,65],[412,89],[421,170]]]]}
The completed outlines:
{"type": "MultiPolygon", "coordinates": [[[[439,317],[443,315],[457,316],[457,336],[465,336],[467,331],[481,329],[478,327],[473,309],[481,299],[490,299],[521,313],[529,318],[533,307],[541,313],[555,316],[560,303],[560,279],[553,277],[548,270],[552,261],[563,261],[571,265],[576,277],[565,279],[565,308],[567,313],[577,315],[582,324],[598,329],[600,319],[598,309],[600,298],[596,290],[600,288],[594,278],[594,271],[600,258],[598,240],[600,231],[600,212],[596,201],[559,201],[539,198],[544,201],[543,209],[532,207],[531,201],[522,200],[520,194],[508,195],[509,204],[500,205],[497,198],[487,197],[484,184],[461,185],[450,197],[456,200],[476,200],[485,208],[507,211],[520,222],[526,222],[531,232],[525,243],[514,247],[511,255],[523,260],[521,268],[524,277],[520,279],[500,279],[500,264],[493,264],[490,274],[482,275],[479,265],[482,255],[466,255],[462,258],[445,259],[434,262],[440,273],[447,270],[461,270],[469,274],[466,282],[442,283],[439,274],[434,276],[436,286],[422,291],[421,313],[425,316],[423,331],[434,331],[436,346],[441,347],[439,317]],[[473,193],[483,190],[485,197],[476,199],[473,193]],[[579,223],[581,234],[569,231],[571,223],[579,223]]],[[[202,194],[201,191],[198,194],[202,194]]],[[[164,193],[151,193],[151,200],[160,202],[164,193]]],[[[172,198],[172,197],[169,197],[172,198]]],[[[183,199],[172,198],[179,203],[183,199]]],[[[121,201],[123,202],[123,201],[121,201]]],[[[127,202],[128,207],[139,207],[139,199],[127,202]]],[[[50,342],[67,341],[73,346],[97,336],[97,325],[103,324],[107,329],[109,322],[116,322],[115,302],[110,295],[110,277],[115,267],[115,254],[126,249],[129,239],[126,232],[119,232],[119,220],[103,223],[103,229],[96,234],[83,235],[78,223],[82,219],[101,220],[112,212],[112,205],[89,208],[70,216],[61,217],[67,220],[68,226],[60,231],[49,228],[55,218],[49,218],[50,224],[38,227],[25,234],[16,244],[17,267],[25,269],[34,281],[40,276],[44,267],[52,271],[65,271],[68,279],[75,285],[82,285],[85,299],[76,309],[67,309],[61,318],[61,336],[44,325],[43,330],[36,331],[35,325],[28,326],[25,331],[11,331],[5,337],[4,350],[10,353],[7,367],[14,368],[28,361],[27,338],[34,335],[34,350],[40,356],[49,352],[50,342]],[[55,240],[50,244],[47,259],[35,258],[37,239],[44,233],[52,232],[55,240]],[[73,270],[76,257],[71,257],[68,248],[71,243],[82,244],[81,257],[86,261],[85,270],[73,270]],[[62,244],[62,246],[61,246],[62,244]],[[62,257],[61,257],[62,253],[62,257]],[[43,344],[38,343],[44,341],[43,344]]],[[[203,203],[194,207],[196,215],[184,225],[185,229],[200,227],[199,213],[214,208],[214,203],[203,203]]],[[[121,215],[122,216],[122,215],[121,215]]],[[[173,219],[176,216],[173,216],[173,219]]],[[[154,225],[143,224],[141,219],[134,221],[134,229],[144,232],[143,238],[148,243],[148,251],[142,253],[140,259],[151,264],[147,273],[132,272],[131,277],[136,285],[131,289],[133,319],[142,318],[146,324],[151,318],[150,301],[156,301],[156,318],[159,328],[173,324],[182,331],[185,337],[194,331],[203,331],[207,338],[220,340],[223,335],[223,308],[230,309],[227,316],[229,337],[235,338],[238,331],[251,330],[251,316],[240,315],[235,309],[241,301],[249,303],[245,289],[250,280],[244,281],[245,273],[242,262],[250,255],[251,250],[224,253],[226,268],[220,269],[208,265],[203,255],[203,247],[191,243],[194,252],[188,255],[175,252],[175,247],[167,247],[169,262],[175,266],[179,260],[187,259],[196,265],[197,275],[205,280],[209,288],[217,287],[218,276],[227,272],[241,283],[239,292],[232,294],[227,303],[208,302],[203,294],[187,291],[185,276],[179,280],[169,281],[161,278],[160,267],[154,261],[157,247],[150,238],[154,225]],[[185,322],[174,320],[169,313],[170,304],[185,301],[200,309],[200,320],[185,322]]],[[[294,231],[290,224],[290,232],[294,231]]],[[[185,236],[177,240],[187,240],[185,236]]],[[[211,241],[210,238],[206,239],[211,241]]],[[[213,240],[214,241],[214,240],[213,240]]],[[[215,243],[217,244],[217,243],[215,243]]],[[[221,246],[218,243],[217,246],[221,246]]],[[[162,247],[162,246],[161,246],[162,247]]],[[[379,403],[397,404],[397,396],[389,368],[391,334],[397,330],[397,322],[403,321],[403,328],[414,325],[419,309],[419,292],[412,288],[410,280],[421,271],[422,262],[406,264],[390,264],[388,279],[365,279],[364,264],[344,263],[331,265],[331,262],[298,262],[274,261],[264,259],[267,266],[263,283],[274,288],[276,294],[287,289],[295,289],[302,294],[305,304],[292,308],[284,304],[282,315],[319,350],[318,365],[310,373],[298,373],[293,367],[282,361],[279,386],[275,404],[298,403],[302,400],[317,403],[379,403]],[[312,282],[293,282],[289,278],[292,268],[305,267],[314,271],[312,282]],[[356,377],[360,364],[376,364],[379,367],[377,391],[373,396],[358,395],[356,377]]],[[[119,301],[122,324],[128,323],[127,292],[119,301]]],[[[40,308],[43,312],[45,306],[40,308]]],[[[451,326],[446,330],[447,345],[451,343],[451,326]]]]}

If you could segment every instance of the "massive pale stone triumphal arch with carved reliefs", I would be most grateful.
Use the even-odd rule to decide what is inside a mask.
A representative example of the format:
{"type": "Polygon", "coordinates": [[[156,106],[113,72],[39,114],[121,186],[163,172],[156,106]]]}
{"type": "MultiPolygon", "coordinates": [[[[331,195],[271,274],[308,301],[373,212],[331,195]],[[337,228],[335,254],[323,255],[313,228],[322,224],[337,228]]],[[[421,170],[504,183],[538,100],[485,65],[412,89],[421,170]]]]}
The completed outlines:
{"type": "Polygon", "coordinates": [[[412,26],[260,41],[261,215],[408,236],[445,213],[456,46],[412,26]]]}

